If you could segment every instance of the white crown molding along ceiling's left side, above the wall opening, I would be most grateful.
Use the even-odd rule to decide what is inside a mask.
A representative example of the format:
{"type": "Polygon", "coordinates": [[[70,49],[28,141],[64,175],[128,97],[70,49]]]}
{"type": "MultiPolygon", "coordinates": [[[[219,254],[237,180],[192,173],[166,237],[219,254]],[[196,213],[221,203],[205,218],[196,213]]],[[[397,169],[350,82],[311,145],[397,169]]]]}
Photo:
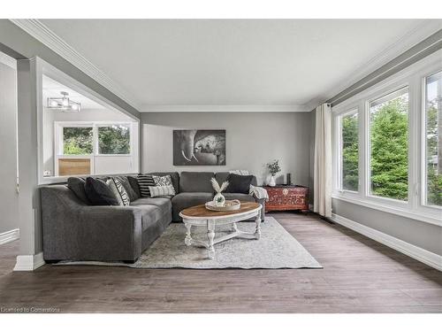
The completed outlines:
{"type": "Polygon", "coordinates": [[[87,58],[83,57],[71,45],[65,42],[61,37],[55,34],[49,27],[46,27],[38,19],[10,19],[12,23],[20,27],[27,34],[32,35],[37,41],[56,52],[73,66],[76,66],[83,73],[88,74],[90,78],[97,81],[104,88],[110,90],[114,95],[123,99],[127,104],[131,104],[135,109],[140,108],[139,102],[131,96],[125,89],[121,88],[117,82],[112,81],[106,73],[95,66],[87,58]]]}

